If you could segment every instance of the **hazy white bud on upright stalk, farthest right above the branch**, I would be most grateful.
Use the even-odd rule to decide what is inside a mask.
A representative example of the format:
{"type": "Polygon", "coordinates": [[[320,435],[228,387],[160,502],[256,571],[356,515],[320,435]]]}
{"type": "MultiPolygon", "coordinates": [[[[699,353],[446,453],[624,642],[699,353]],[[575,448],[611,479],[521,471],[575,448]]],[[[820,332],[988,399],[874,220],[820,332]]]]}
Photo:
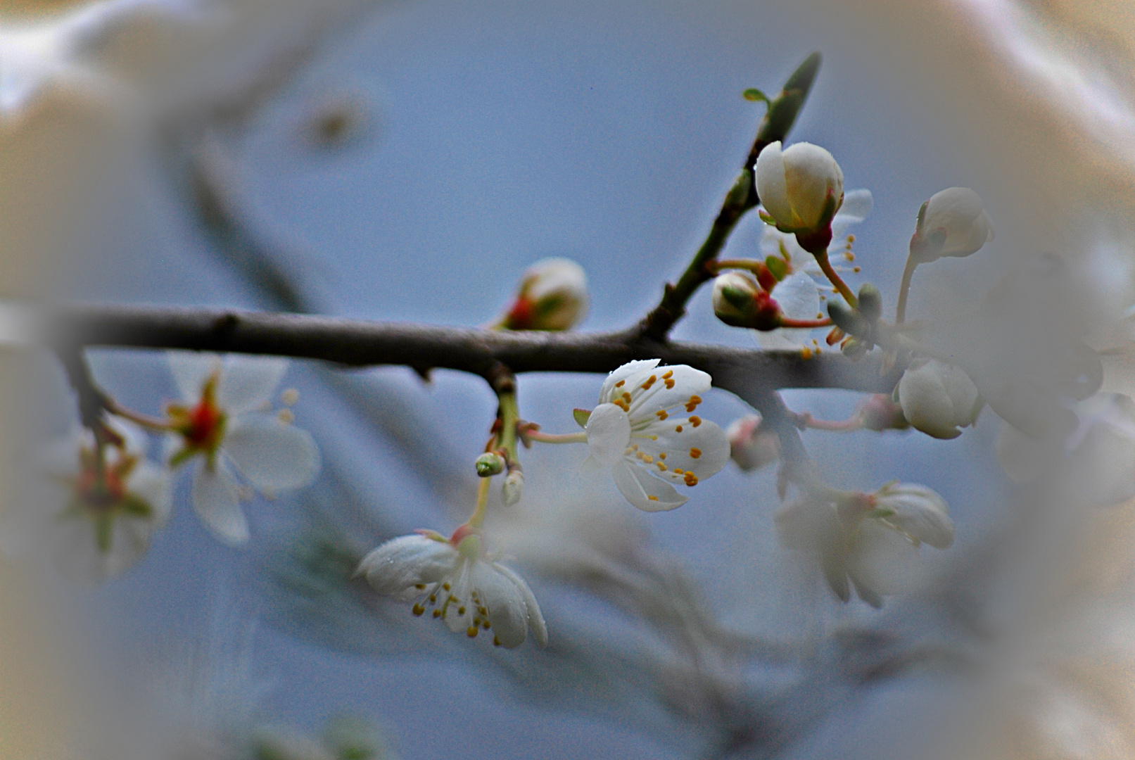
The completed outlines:
{"type": "Polygon", "coordinates": [[[993,222],[982,209],[982,197],[968,187],[948,187],[918,210],[910,253],[923,263],[968,256],[992,239],[993,222]]]}

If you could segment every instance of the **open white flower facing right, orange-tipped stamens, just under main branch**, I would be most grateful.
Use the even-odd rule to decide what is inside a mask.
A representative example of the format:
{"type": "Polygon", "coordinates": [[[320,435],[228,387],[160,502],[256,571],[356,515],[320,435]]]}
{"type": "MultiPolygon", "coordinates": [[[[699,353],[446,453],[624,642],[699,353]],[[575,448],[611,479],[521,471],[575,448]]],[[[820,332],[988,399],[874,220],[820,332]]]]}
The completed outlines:
{"type": "Polygon", "coordinates": [[[629,362],[607,375],[585,427],[591,458],[611,468],[628,501],[648,512],[686,504],[670,483],[697,485],[725,466],[730,451],[724,431],[692,414],[709,375],[684,364],[659,368],[659,361],[629,362]]]}

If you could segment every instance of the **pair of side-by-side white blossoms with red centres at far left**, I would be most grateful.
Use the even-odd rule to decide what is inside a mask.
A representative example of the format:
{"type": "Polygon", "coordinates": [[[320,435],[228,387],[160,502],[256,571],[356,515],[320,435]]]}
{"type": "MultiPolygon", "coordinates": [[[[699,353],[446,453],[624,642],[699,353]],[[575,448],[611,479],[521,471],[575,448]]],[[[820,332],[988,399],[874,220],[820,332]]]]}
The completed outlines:
{"type": "MultiPolygon", "coordinates": [[[[228,546],[249,540],[241,503],[253,490],[271,497],[314,481],[311,434],[289,409],[271,412],[286,360],[170,352],[169,366],[182,399],[162,417],[110,403],[94,430],[76,428],[48,447],[34,504],[5,525],[8,548],[42,534],[68,575],[102,581],[146,552],[169,517],[177,470],[192,470],[193,509],[228,546]],[[146,459],[148,430],[165,439],[161,464],[146,459]]],[[[285,403],[295,396],[285,391],[285,403]]]]}

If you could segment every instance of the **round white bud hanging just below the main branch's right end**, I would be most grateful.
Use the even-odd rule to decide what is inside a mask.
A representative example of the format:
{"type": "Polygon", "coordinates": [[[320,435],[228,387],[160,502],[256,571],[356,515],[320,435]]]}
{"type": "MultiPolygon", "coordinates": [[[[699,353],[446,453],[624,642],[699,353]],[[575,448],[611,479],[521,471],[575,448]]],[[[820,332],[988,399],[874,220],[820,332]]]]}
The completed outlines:
{"type": "Polygon", "coordinates": [[[977,387],[964,370],[936,358],[911,364],[899,380],[899,404],[911,425],[934,438],[957,438],[981,412],[977,387]]]}

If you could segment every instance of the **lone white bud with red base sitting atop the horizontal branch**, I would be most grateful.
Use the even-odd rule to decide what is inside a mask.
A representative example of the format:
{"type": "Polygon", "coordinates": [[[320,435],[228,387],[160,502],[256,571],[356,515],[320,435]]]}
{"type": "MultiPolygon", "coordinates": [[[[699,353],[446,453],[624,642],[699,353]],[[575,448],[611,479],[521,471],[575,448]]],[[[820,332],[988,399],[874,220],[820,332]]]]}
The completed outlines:
{"type": "Polygon", "coordinates": [[[587,313],[587,276],[570,259],[545,259],[524,272],[501,321],[507,330],[570,330],[587,313]]]}

